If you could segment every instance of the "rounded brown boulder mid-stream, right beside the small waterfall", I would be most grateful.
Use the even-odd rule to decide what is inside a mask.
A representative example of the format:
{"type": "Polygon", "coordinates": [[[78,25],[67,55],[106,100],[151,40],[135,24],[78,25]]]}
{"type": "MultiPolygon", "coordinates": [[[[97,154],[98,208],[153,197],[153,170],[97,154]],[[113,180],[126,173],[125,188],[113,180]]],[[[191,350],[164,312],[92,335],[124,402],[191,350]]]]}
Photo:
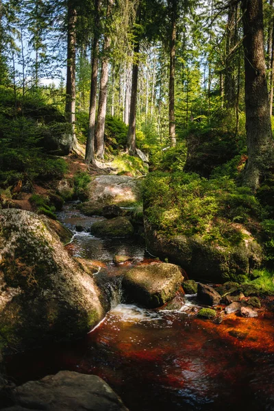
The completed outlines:
{"type": "Polygon", "coordinates": [[[156,263],[129,269],[122,284],[130,301],[156,308],[175,296],[183,279],[181,270],[175,264],[156,263]]]}

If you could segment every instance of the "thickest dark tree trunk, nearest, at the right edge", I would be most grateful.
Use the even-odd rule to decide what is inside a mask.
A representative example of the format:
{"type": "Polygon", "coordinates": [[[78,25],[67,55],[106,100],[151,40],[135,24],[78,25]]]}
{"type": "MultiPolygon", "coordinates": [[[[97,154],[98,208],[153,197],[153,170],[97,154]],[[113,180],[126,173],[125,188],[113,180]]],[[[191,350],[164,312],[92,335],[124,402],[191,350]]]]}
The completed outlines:
{"type": "Polygon", "coordinates": [[[273,137],[269,115],[262,0],[242,0],[245,49],[245,112],[247,165],[243,182],[252,190],[273,162],[273,137]]]}

